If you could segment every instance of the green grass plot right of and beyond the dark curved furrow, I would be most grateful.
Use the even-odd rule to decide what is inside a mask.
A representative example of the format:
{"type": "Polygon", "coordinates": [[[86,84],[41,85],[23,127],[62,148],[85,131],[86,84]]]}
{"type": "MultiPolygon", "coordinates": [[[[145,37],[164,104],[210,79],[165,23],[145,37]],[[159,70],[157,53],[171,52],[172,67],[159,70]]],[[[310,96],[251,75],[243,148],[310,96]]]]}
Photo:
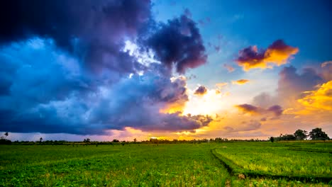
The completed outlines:
{"type": "Polygon", "coordinates": [[[330,181],[331,143],[227,144],[215,150],[236,173],[251,176],[278,176],[304,181],[330,181]],[[296,149],[294,149],[296,147],[296,149]]]}

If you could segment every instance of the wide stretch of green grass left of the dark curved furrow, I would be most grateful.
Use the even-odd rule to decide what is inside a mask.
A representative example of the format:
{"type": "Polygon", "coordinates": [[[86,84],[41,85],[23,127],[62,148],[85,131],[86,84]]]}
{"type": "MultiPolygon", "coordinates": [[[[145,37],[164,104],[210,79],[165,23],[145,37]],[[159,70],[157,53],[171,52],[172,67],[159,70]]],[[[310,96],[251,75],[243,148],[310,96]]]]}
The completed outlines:
{"type": "Polygon", "coordinates": [[[206,145],[0,149],[0,186],[223,186],[229,177],[206,145]]]}

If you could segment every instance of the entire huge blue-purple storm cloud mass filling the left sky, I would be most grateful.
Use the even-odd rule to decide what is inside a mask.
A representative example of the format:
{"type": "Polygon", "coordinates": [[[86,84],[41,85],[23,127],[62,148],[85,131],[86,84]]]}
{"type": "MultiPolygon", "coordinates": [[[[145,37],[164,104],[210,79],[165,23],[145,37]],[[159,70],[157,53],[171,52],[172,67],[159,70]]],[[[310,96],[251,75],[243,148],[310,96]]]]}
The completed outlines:
{"type": "Polygon", "coordinates": [[[156,23],[150,11],[150,1],[1,1],[0,130],[92,135],[208,125],[209,116],[181,115],[187,80],[171,69],[206,62],[196,23],[156,23]],[[126,40],[161,63],[138,62],[123,52],[126,40]]]}

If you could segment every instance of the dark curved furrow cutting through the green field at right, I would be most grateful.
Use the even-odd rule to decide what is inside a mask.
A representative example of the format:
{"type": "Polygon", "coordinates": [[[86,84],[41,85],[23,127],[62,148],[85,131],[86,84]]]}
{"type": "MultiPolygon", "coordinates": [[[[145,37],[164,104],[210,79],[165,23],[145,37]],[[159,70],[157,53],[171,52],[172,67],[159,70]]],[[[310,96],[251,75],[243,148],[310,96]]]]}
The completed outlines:
{"type": "Polygon", "coordinates": [[[223,157],[221,154],[218,154],[216,152],[216,148],[210,149],[211,154],[214,155],[218,161],[225,166],[227,169],[228,173],[231,174],[232,176],[236,176],[240,178],[241,175],[245,175],[245,177],[250,177],[250,178],[262,178],[262,179],[284,179],[287,181],[301,181],[303,183],[332,183],[332,177],[328,176],[285,176],[285,175],[274,175],[274,174],[261,174],[255,171],[244,171],[244,169],[238,165],[236,165],[234,162],[231,160],[223,157]],[[231,164],[233,166],[231,166],[231,164]],[[237,168],[235,168],[237,167],[237,168]]]}

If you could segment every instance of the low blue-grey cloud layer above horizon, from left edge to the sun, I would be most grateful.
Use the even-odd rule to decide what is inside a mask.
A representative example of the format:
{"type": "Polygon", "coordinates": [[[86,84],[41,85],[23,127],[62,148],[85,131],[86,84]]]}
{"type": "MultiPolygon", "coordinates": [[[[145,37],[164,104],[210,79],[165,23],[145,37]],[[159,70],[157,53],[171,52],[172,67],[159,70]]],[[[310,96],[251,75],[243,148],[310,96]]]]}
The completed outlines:
{"type": "MultiPolygon", "coordinates": [[[[0,128],[11,132],[104,134],[105,130],[125,127],[182,131],[208,125],[212,120],[208,115],[160,113],[163,108],[187,102],[187,83],[182,77],[170,80],[161,70],[165,67],[154,65],[155,68],[143,76],[121,79],[84,97],[73,92],[68,98],[48,103],[6,100],[21,110],[16,107],[0,109],[0,128]]],[[[17,98],[20,96],[25,95],[21,93],[17,98]]]]}

